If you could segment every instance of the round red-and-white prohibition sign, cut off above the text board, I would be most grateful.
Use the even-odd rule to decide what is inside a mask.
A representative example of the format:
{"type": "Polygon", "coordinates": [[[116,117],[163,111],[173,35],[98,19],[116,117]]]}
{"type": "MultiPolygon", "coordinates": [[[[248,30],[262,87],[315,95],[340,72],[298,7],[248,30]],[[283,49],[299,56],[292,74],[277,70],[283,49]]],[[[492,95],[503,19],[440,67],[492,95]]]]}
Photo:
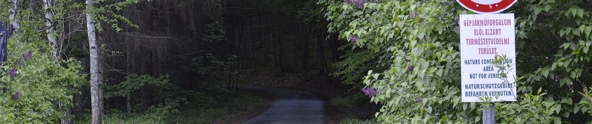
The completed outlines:
{"type": "Polygon", "coordinates": [[[466,9],[478,14],[497,14],[504,11],[517,0],[456,0],[466,9]]]}

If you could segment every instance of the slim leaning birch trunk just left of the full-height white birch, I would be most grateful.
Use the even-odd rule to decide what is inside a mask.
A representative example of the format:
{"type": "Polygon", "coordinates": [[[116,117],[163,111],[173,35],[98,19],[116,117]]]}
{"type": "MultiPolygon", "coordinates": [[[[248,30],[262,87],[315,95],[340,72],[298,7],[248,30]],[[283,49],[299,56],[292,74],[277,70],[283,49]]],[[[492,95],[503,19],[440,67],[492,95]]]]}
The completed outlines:
{"type": "Polygon", "coordinates": [[[48,28],[46,29],[47,32],[47,40],[49,40],[49,46],[52,48],[52,56],[54,61],[57,62],[57,60],[59,60],[60,56],[58,54],[58,51],[60,51],[57,48],[57,39],[56,36],[54,35],[54,33],[56,32],[56,28],[55,25],[53,25],[53,14],[52,14],[52,10],[49,9],[50,7],[52,7],[52,0],[43,0],[43,9],[45,11],[45,26],[47,26],[48,28]]]}

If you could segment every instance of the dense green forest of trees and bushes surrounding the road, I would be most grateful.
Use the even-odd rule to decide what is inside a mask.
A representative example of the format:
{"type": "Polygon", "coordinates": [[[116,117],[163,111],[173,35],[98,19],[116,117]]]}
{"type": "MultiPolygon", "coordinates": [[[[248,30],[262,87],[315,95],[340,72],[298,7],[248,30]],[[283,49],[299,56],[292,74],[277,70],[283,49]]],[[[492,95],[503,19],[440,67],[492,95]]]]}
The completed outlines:
{"type": "Polygon", "coordinates": [[[514,102],[461,102],[474,13],[453,0],[0,3],[0,123],[240,123],[278,101],[243,86],[318,95],[323,123],[482,123],[490,105],[497,123],[592,123],[585,0],[501,12],[514,102]]]}

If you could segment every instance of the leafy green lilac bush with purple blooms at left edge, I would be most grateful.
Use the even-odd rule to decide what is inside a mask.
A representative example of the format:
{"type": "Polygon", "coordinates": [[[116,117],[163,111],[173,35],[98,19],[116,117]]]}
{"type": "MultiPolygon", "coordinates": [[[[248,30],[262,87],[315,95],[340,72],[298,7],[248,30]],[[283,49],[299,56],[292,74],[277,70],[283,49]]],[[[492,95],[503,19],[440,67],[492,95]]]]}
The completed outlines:
{"type": "MultiPolygon", "coordinates": [[[[8,49],[17,49],[14,41],[8,43],[8,49]]],[[[73,107],[73,95],[79,93],[76,88],[88,84],[79,72],[82,66],[75,59],[54,62],[33,43],[20,45],[27,52],[9,51],[8,62],[2,66],[0,89],[7,92],[0,91],[0,122],[58,122],[62,112],[73,107]]]]}

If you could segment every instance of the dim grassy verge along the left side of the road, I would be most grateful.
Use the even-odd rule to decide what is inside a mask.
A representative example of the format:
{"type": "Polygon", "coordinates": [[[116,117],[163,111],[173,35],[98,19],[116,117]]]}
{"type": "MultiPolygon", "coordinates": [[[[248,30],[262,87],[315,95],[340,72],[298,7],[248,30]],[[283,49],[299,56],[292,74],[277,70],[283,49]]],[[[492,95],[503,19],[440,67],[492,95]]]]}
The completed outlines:
{"type": "MultiPolygon", "coordinates": [[[[236,93],[215,96],[213,105],[200,105],[189,103],[178,106],[178,110],[170,110],[172,113],[163,110],[149,110],[144,113],[123,113],[120,110],[113,110],[103,119],[104,124],[120,123],[213,123],[225,116],[239,115],[246,113],[246,110],[253,109],[258,103],[268,102],[268,99],[257,96],[252,92],[238,90],[236,93]]],[[[165,110],[166,111],[166,110],[165,110]]]]}

